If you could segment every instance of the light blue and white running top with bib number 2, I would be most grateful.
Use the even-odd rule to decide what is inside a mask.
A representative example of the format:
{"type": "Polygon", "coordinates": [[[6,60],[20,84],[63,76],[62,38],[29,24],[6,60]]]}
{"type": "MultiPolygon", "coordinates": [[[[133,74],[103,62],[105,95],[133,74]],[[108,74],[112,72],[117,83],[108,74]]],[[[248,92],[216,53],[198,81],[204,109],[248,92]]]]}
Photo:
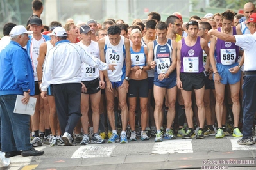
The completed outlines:
{"type": "Polygon", "coordinates": [[[131,61],[133,66],[146,66],[146,55],[144,53],[144,47],[141,47],[139,52],[134,52],[130,47],[131,61]]]}

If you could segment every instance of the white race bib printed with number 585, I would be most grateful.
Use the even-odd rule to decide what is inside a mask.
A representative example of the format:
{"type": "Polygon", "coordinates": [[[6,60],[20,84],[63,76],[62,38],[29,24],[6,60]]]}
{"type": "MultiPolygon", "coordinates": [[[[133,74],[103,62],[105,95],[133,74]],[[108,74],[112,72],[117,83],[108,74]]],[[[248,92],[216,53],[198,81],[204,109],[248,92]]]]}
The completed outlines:
{"type": "Polygon", "coordinates": [[[221,49],[221,64],[232,65],[235,63],[235,49],[221,49]]]}

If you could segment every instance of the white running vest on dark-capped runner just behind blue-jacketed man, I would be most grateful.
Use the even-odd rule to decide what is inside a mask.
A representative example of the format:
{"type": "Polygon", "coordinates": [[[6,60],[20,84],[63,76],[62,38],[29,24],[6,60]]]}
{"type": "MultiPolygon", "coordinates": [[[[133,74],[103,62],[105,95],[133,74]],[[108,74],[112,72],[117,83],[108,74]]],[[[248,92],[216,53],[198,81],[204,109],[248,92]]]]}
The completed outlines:
{"type": "Polygon", "coordinates": [[[37,77],[37,64],[38,64],[38,56],[39,56],[39,47],[42,43],[46,42],[46,39],[42,36],[40,40],[35,40],[33,36],[31,37],[31,43],[30,43],[30,58],[32,61],[32,67],[34,70],[34,77],[35,81],[38,81],[37,77]]]}

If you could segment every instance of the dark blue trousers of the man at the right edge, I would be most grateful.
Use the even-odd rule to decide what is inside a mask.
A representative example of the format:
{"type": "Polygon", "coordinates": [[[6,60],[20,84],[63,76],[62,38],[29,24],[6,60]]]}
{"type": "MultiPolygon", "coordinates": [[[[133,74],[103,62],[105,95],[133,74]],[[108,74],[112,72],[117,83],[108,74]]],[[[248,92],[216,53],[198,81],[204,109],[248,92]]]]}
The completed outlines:
{"type": "Polygon", "coordinates": [[[243,89],[243,139],[252,137],[253,119],[256,111],[256,75],[244,77],[243,89]]]}

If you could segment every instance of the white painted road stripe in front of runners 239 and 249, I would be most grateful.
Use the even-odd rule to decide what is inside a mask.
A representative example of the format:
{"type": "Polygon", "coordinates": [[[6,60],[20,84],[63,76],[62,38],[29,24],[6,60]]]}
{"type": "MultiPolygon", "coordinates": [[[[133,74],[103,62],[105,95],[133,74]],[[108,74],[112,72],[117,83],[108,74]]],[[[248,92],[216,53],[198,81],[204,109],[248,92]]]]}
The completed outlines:
{"type": "Polygon", "coordinates": [[[114,144],[97,144],[85,145],[76,150],[71,158],[96,158],[110,157],[112,151],[117,145],[114,144]]]}

